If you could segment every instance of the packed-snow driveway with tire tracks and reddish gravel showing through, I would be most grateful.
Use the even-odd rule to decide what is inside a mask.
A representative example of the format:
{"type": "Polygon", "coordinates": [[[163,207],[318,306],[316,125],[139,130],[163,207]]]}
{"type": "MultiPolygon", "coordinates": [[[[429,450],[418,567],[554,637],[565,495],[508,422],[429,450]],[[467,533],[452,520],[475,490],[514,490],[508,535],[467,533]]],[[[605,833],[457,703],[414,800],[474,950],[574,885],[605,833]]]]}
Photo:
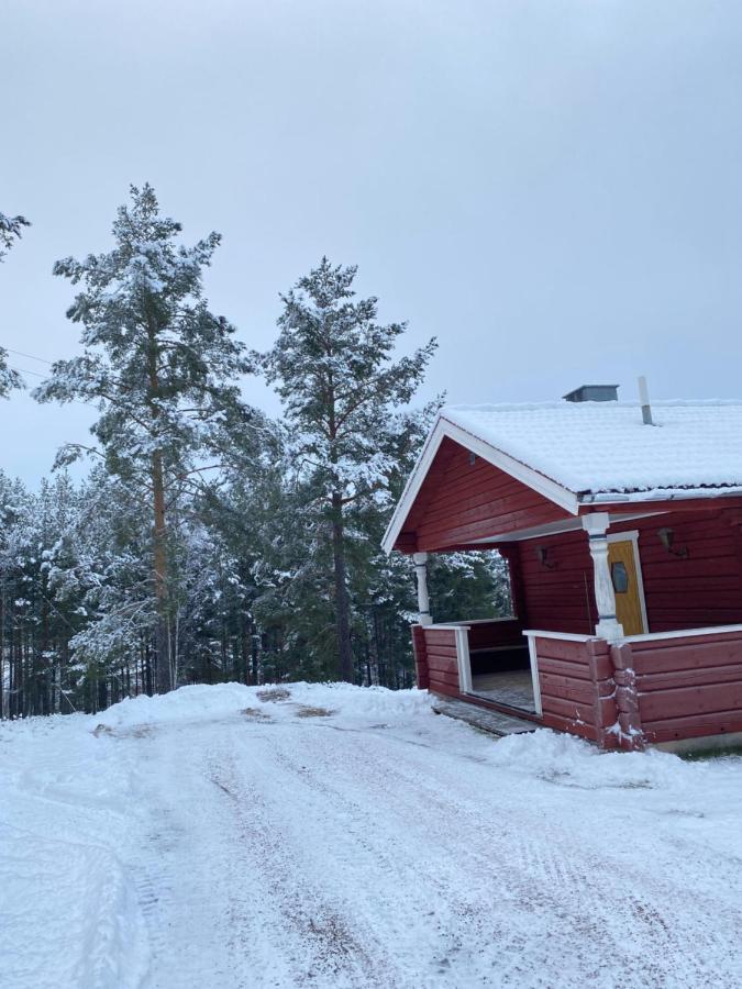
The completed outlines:
{"type": "Polygon", "coordinates": [[[641,842],[623,854],[578,826],[603,800],[618,834],[620,792],[569,790],[557,823],[553,784],[391,732],[339,744],[328,727],[167,730],[155,778],[170,777],[175,834],[143,889],[153,989],[553,989],[555,957],[556,985],[613,989],[617,970],[625,989],[740,984],[731,896],[717,931],[702,914],[718,897],[656,878],[641,842]],[[201,957],[197,930],[201,951],[214,942],[201,957]]]}

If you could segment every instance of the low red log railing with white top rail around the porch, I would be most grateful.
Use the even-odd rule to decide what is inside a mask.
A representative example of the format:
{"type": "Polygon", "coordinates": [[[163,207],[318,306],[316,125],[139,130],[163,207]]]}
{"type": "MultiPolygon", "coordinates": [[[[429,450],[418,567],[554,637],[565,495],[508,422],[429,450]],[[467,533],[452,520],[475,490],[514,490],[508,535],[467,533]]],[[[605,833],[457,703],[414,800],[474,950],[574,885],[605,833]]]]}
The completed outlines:
{"type": "Polygon", "coordinates": [[[418,686],[605,748],[742,733],[742,624],[612,644],[525,630],[528,667],[477,675],[470,644],[486,625],[413,625],[418,686]]]}

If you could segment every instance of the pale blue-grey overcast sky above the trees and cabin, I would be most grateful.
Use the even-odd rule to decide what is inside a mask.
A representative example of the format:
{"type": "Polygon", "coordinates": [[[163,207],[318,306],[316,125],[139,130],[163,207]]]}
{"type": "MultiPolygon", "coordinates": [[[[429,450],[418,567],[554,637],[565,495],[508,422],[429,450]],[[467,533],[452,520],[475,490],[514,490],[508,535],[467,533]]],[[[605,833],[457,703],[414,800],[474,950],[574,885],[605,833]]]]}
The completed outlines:
{"type": "MultiPolygon", "coordinates": [[[[76,349],[52,265],[151,181],[223,234],[208,296],[253,347],[328,254],[439,337],[421,398],[742,396],[739,0],[3,0],[0,66],[7,347],[76,349]]],[[[37,484],[89,421],[14,396],[0,467],[37,484]]]]}

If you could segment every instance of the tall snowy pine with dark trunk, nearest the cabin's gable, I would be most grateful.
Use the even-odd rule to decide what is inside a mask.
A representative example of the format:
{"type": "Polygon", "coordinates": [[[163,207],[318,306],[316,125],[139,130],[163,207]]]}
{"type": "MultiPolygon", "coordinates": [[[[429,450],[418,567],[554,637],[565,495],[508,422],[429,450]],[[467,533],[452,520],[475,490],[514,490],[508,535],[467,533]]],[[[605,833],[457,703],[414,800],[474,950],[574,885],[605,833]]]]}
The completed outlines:
{"type": "Polygon", "coordinates": [[[389,498],[407,405],[435,349],[431,340],[392,360],[403,323],[380,325],[377,300],[355,301],[355,267],[323,257],[283,298],[279,336],[259,359],[284,401],[292,462],[329,527],[334,586],[337,675],[353,679],[347,587],[348,511],[389,498]]]}

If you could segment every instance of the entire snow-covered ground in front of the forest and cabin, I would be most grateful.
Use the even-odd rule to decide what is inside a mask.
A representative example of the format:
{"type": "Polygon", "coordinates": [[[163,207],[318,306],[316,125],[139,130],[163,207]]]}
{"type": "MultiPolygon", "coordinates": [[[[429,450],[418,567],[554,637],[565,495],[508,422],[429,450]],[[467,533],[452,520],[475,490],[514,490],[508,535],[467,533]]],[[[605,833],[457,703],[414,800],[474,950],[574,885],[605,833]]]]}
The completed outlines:
{"type": "Polygon", "coordinates": [[[742,759],[228,685],[4,724],[0,794],[4,989],[742,985],[742,759]]]}

